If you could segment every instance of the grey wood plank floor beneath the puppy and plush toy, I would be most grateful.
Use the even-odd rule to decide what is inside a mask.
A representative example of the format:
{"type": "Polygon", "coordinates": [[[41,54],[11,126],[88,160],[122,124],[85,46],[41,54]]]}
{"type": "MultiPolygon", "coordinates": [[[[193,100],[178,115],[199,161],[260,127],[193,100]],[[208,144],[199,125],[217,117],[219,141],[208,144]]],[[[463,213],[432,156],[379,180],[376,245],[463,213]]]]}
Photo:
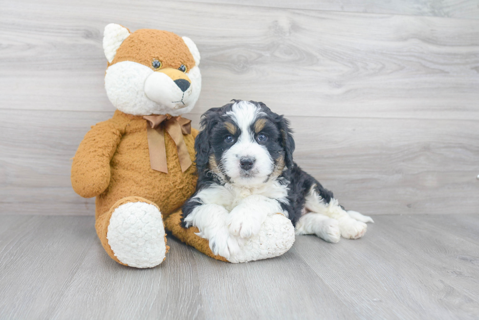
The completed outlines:
{"type": "Polygon", "coordinates": [[[359,240],[213,260],[169,237],[121,266],[90,216],[0,216],[0,319],[477,319],[479,215],[377,215],[359,240]]]}

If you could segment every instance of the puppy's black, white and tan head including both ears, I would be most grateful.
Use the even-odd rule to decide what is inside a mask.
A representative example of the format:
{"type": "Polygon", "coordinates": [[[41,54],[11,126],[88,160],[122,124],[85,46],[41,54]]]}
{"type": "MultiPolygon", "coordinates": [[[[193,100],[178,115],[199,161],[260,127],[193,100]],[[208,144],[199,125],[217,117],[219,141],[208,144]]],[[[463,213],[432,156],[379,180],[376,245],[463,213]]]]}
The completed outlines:
{"type": "Polygon", "coordinates": [[[287,161],[292,161],[294,142],[287,121],[261,103],[236,101],[210,109],[202,125],[196,163],[200,168],[204,162],[205,169],[220,180],[260,184],[281,175],[287,161]]]}

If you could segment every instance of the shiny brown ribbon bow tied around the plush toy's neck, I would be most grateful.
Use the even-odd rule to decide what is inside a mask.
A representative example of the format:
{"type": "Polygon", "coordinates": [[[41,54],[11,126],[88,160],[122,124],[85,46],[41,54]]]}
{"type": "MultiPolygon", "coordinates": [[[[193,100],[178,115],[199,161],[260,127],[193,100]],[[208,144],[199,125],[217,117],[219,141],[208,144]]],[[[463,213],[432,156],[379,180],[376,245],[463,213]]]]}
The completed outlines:
{"type": "Polygon", "coordinates": [[[163,128],[168,131],[176,145],[181,171],[185,172],[190,168],[193,162],[191,161],[190,153],[188,153],[183,134],[191,134],[191,120],[181,118],[181,116],[172,117],[168,114],[144,116],[143,119],[147,120],[150,124],[150,126],[147,126],[147,133],[152,169],[168,173],[166,166],[165,133],[163,128]]]}

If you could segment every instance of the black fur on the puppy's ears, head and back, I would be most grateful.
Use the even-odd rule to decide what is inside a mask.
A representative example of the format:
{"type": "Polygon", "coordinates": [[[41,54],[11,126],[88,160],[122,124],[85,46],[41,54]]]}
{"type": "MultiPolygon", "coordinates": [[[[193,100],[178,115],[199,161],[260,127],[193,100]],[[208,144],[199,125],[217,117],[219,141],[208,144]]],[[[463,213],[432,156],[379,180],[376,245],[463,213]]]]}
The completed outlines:
{"type": "MultiPolygon", "coordinates": [[[[223,135],[220,130],[223,126],[218,126],[225,122],[221,116],[226,112],[231,111],[235,102],[240,100],[232,100],[233,103],[227,104],[220,108],[211,108],[201,116],[201,132],[196,136],[195,150],[196,150],[196,167],[198,170],[198,182],[196,184],[196,192],[182,207],[183,217],[190,214],[196,206],[201,205],[195,197],[196,193],[212,184],[221,184],[223,181],[218,180],[218,177],[209,169],[209,158],[213,154],[216,159],[221,158],[222,152],[231,146],[224,145],[223,135]],[[215,141],[216,137],[218,141],[215,141]]],[[[265,142],[266,147],[270,151],[273,159],[278,159],[283,156],[286,168],[279,177],[279,181],[289,188],[287,199],[288,204],[281,203],[283,210],[288,212],[289,219],[293,225],[301,217],[302,209],[305,205],[305,196],[310,192],[314,185],[315,191],[322,197],[325,203],[329,203],[333,197],[333,193],[323,188],[323,186],[311,175],[303,171],[293,161],[293,151],[295,143],[292,135],[292,130],[289,127],[289,121],[284,119],[283,115],[278,115],[272,112],[261,102],[250,101],[251,103],[261,107],[266,114],[265,118],[268,120],[263,131],[267,132],[269,140],[265,142]],[[274,124],[274,125],[271,125],[274,124]],[[272,127],[271,127],[272,126],[272,127]]],[[[239,129],[238,129],[239,130],[239,129]]],[[[237,132],[236,137],[240,134],[237,132]]],[[[236,138],[235,138],[236,139],[236,138]]],[[[236,141],[236,140],[235,140],[236,141]]],[[[228,178],[228,177],[226,177],[228,178]]],[[[184,218],[182,218],[182,225],[184,218]]]]}

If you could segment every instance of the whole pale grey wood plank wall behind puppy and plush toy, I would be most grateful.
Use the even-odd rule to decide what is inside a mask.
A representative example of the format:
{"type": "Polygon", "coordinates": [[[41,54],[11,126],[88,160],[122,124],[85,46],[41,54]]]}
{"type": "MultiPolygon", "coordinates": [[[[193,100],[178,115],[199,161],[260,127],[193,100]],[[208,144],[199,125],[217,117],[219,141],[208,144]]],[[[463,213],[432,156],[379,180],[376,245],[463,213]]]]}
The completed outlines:
{"type": "Polygon", "coordinates": [[[479,212],[479,1],[1,0],[0,214],[93,214],[70,158],[114,111],[109,22],[192,38],[194,126],[233,98],[266,103],[347,208],[479,212]]]}

